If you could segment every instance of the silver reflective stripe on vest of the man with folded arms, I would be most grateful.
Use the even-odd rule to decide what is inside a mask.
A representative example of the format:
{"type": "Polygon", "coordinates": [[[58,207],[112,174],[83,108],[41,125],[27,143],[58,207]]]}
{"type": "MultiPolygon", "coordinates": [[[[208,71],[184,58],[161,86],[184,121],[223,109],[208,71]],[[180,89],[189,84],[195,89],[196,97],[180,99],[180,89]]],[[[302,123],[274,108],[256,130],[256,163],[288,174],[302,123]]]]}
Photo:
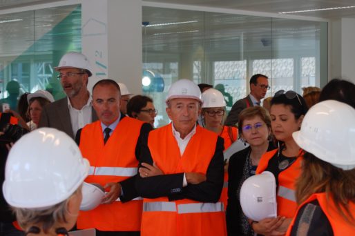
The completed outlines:
{"type": "Polygon", "coordinates": [[[213,203],[192,203],[178,205],[178,213],[215,213],[224,211],[222,202],[213,203]]]}

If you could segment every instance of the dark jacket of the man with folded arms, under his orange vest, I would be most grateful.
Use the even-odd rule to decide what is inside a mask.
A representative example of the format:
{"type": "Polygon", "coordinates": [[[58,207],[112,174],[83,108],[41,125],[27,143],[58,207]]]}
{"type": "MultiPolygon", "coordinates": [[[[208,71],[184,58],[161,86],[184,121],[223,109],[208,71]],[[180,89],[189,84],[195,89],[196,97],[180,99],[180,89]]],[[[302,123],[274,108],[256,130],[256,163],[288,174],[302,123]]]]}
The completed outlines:
{"type": "MultiPolygon", "coordinates": [[[[223,185],[223,145],[224,140],[218,137],[215,153],[207,168],[207,181],[182,187],[184,173],[157,175],[148,178],[142,178],[138,175],[135,182],[138,193],[146,198],[168,197],[169,201],[192,199],[202,202],[217,202],[223,185]]],[[[142,162],[153,165],[151,152],[148,148],[148,135],[144,137],[142,142],[140,164],[142,162]]]]}

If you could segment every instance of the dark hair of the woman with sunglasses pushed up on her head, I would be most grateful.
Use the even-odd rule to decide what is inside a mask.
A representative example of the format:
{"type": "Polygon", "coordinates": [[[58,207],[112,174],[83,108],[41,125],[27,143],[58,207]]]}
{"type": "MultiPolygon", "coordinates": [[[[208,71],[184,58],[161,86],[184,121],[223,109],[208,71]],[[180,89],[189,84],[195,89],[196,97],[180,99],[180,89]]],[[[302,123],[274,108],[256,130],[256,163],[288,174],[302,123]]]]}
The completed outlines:
{"type": "MultiPolygon", "coordinates": [[[[276,92],[277,93],[277,92],[276,92]]],[[[305,99],[298,93],[296,93],[296,97],[293,99],[289,99],[285,94],[281,94],[278,96],[274,96],[271,99],[271,106],[276,104],[283,104],[285,106],[290,106],[291,112],[294,114],[295,119],[299,119],[301,115],[306,115],[308,107],[305,99]],[[300,99],[298,101],[298,99],[300,99]],[[301,103],[301,104],[300,104],[301,103]]]]}

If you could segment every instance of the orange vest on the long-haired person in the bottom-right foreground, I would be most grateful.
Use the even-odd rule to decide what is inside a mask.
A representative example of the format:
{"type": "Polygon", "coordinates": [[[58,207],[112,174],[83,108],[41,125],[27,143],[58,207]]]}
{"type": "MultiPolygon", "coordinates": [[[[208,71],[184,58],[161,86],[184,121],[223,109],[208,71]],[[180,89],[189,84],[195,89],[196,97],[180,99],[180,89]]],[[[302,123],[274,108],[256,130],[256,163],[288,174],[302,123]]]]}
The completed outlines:
{"type": "MultiPolygon", "coordinates": [[[[314,201],[315,199],[318,200],[320,208],[322,208],[323,212],[327,216],[327,219],[332,226],[334,235],[355,235],[355,226],[350,225],[349,223],[345,222],[345,219],[340,215],[334,201],[331,196],[327,199],[327,195],[325,193],[315,193],[311,195],[305,202],[300,204],[297,209],[297,213],[305,204],[309,203],[310,201],[314,201]]],[[[355,203],[354,201],[349,201],[349,209],[352,217],[355,219],[355,203]]],[[[296,217],[292,220],[289,228],[287,230],[286,235],[291,234],[292,227],[294,226],[296,217]]]]}

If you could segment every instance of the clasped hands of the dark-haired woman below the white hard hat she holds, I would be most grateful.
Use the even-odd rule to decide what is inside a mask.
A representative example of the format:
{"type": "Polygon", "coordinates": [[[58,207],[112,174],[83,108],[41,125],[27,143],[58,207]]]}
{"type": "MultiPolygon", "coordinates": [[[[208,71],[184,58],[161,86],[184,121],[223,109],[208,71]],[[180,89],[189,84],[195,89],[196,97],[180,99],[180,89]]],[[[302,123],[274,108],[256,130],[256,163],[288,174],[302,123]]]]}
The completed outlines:
{"type": "Polygon", "coordinates": [[[255,233],[258,235],[267,235],[267,236],[279,236],[285,235],[286,230],[280,230],[279,227],[285,221],[285,217],[276,217],[276,218],[265,218],[260,220],[260,222],[253,223],[252,227],[255,233]]]}

